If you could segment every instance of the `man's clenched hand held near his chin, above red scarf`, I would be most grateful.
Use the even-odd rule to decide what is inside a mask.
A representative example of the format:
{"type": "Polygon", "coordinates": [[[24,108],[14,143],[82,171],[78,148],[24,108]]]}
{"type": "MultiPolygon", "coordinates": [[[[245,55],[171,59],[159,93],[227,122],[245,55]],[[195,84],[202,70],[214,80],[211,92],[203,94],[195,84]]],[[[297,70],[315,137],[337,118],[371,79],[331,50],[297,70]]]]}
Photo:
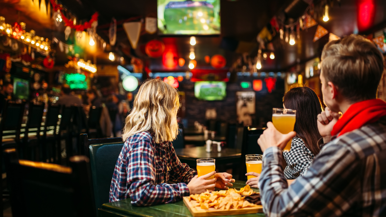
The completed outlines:
{"type": "Polygon", "coordinates": [[[318,114],[318,130],[320,136],[323,137],[323,142],[331,141],[331,131],[336,122],[339,120],[340,114],[332,112],[330,108],[326,107],[325,111],[318,114]]]}

